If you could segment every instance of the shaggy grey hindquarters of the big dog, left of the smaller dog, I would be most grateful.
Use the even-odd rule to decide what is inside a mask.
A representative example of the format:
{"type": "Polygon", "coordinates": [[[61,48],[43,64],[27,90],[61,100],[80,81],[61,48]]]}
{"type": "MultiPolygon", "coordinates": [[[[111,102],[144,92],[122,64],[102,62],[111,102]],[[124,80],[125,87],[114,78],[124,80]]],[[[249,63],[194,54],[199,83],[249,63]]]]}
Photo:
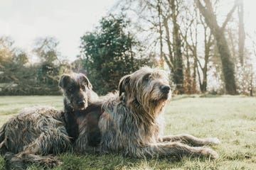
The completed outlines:
{"type": "Polygon", "coordinates": [[[57,158],[46,155],[71,149],[64,122],[61,111],[47,106],[24,108],[11,118],[0,130],[6,169],[26,169],[29,163],[59,164],[57,158]]]}

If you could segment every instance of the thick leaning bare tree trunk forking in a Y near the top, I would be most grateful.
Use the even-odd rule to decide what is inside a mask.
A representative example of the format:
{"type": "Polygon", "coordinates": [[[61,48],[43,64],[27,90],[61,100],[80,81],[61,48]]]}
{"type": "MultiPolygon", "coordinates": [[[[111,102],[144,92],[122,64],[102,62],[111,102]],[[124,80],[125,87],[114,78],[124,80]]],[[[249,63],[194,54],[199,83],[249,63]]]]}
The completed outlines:
{"type": "Polygon", "coordinates": [[[213,12],[213,6],[210,0],[204,0],[206,4],[205,6],[201,4],[200,0],[195,0],[195,2],[199,8],[199,11],[205,18],[205,21],[215,38],[215,41],[218,47],[218,52],[220,54],[220,59],[222,62],[222,68],[223,68],[222,70],[223,70],[223,76],[225,81],[226,93],[231,95],[237,94],[236,85],[235,85],[235,66],[231,60],[228,42],[225,39],[225,34],[224,34],[225,26],[230,20],[230,17],[232,16],[232,13],[235,11],[235,8],[237,5],[235,4],[233,6],[231,11],[228,13],[227,18],[225,19],[223,26],[220,27],[217,23],[217,18],[213,12]]]}

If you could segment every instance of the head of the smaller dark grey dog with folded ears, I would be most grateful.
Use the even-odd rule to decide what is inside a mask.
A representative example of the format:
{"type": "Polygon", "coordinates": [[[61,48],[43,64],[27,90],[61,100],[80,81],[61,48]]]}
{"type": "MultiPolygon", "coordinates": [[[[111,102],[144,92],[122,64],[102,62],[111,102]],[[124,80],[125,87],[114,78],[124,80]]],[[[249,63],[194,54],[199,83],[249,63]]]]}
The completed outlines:
{"type": "Polygon", "coordinates": [[[87,108],[92,84],[84,74],[63,74],[59,86],[63,90],[65,104],[75,110],[87,108]]]}

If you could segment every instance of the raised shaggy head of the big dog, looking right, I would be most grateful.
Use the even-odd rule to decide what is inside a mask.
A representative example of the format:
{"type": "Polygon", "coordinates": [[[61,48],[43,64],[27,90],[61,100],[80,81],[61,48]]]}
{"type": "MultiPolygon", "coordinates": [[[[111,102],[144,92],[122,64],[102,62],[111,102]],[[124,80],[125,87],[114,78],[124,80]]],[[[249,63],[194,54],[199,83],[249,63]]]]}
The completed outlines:
{"type": "Polygon", "coordinates": [[[161,69],[142,67],[122,77],[119,82],[119,96],[124,96],[129,105],[139,105],[144,111],[163,107],[171,97],[169,79],[161,69]]]}

